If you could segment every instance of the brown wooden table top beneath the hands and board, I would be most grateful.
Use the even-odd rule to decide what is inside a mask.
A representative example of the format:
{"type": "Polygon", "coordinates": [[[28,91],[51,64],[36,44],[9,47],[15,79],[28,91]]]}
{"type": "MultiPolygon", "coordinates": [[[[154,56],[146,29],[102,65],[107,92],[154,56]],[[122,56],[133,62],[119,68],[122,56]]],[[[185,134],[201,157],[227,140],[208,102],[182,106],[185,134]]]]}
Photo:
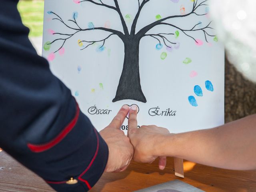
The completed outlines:
{"type": "MultiPolygon", "coordinates": [[[[164,171],[157,162],[132,162],[122,173],[103,174],[92,192],[132,192],[170,180],[174,176],[173,158],[164,171]]],[[[184,162],[185,178],[180,179],[206,192],[256,192],[256,171],[223,170],[184,162]]],[[[5,152],[0,152],[0,192],[52,192],[44,181],[24,168],[5,152]]]]}

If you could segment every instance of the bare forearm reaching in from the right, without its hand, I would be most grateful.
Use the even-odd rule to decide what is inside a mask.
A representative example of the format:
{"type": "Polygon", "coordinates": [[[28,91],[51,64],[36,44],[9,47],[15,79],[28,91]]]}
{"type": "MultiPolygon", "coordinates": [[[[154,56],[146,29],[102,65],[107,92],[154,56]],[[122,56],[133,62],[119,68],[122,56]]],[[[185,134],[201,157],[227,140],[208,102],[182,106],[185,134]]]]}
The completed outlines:
{"type": "Polygon", "coordinates": [[[159,138],[156,155],[227,169],[256,169],[256,115],[208,130],[159,138]]]}

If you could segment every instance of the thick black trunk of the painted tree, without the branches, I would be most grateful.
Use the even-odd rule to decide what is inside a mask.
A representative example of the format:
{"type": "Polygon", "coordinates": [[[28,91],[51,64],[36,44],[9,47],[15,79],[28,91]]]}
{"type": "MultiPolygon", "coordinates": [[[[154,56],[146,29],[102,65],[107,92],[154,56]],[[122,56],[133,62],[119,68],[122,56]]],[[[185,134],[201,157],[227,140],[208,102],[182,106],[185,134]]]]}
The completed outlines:
{"type": "Polygon", "coordinates": [[[112,102],[130,99],[146,103],[147,100],[140,86],[140,39],[127,39],[123,40],[123,42],[124,66],[116,91],[116,97],[112,100],[112,102]]]}

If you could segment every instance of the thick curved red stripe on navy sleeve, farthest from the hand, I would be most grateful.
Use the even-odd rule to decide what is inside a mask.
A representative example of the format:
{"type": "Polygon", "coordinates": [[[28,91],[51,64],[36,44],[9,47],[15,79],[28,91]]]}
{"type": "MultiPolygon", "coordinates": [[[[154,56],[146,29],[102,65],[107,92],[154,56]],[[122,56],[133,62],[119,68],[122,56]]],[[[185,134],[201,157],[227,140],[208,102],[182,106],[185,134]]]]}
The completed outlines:
{"type": "Polygon", "coordinates": [[[75,117],[71,120],[71,122],[60,132],[60,134],[58,134],[58,136],[56,136],[54,139],[52,139],[50,142],[47,142],[45,144],[31,144],[28,143],[27,146],[28,148],[30,148],[30,150],[32,152],[35,153],[40,153],[40,152],[44,152],[46,150],[49,150],[50,148],[52,148],[53,146],[55,146],[56,144],[58,144],[59,142],[61,142],[66,136],[67,134],[74,128],[74,126],[76,125],[76,122],[78,120],[79,117],[79,106],[76,103],[76,114],[75,117]]]}

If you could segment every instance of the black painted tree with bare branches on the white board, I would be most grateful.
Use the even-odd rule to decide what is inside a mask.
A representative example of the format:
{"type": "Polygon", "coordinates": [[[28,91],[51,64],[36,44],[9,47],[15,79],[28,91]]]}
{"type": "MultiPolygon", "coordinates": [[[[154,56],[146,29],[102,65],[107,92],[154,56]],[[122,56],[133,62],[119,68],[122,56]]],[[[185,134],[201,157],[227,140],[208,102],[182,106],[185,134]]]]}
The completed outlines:
{"type": "MultiPolygon", "coordinates": [[[[82,42],[86,43],[86,46],[81,49],[81,50],[84,50],[96,42],[102,43],[102,47],[103,47],[106,40],[108,40],[108,38],[110,38],[112,35],[118,36],[124,43],[124,63],[123,63],[122,74],[120,76],[120,81],[119,81],[119,84],[118,84],[118,87],[116,90],[116,96],[112,100],[112,102],[130,99],[130,100],[137,100],[139,102],[146,103],[147,100],[142,92],[142,88],[140,85],[140,71],[139,71],[140,40],[145,36],[149,36],[149,37],[156,39],[160,45],[161,45],[161,43],[163,43],[165,46],[169,47],[170,44],[176,44],[169,40],[170,35],[174,35],[174,33],[158,33],[158,34],[149,34],[148,33],[150,29],[152,29],[156,26],[166,25],[166,26],[170,26],[170,28],[172,30],[175,29],[175,30],[179,30],[180,32],[183,32],[183,34],[185,34],[189,38],[192,38],[195,42],[196,42],[196,39],[193,36],[191,36],[190,33],[194,32],[194,31],[202,31],[206,42],[208,42],[207,38],[209,36],[214,36],[214,35],[209,34],[209,32],[207,32],[207,29],[212,29],[210,27],[211,22],[208,23],[208,25],[205,25],[201,28],[198,28],[198,26],[200,24],[202,25],[202,23],[198,23],[198,24],[195,24],[193,28],[182,29],[182,28],[175,26],[173,24],[170,24],[168,21],[166,21],[171,18],[183,18],[183,17],[190,16],[192,14],[196,14],[198,16],[206,15],[206,14],[198,14],[198,13],[196,13],[196,11],[198,10],[199,7],[208,6],[206,4],[206,2],[208,0],[203,0],[203,1],[194,0],[193,7],[191,7],[191,11],[188,14],[173,15],[173,16],[168,16],[166,18],[160,18],[159,20],[156,20],[155,22],[143,27],[137,33],[136,33],[136,25],[138,22],[138,18],[140,17],[140,13],[141,13],[143,7],[145,7],[145,5],[150,2],[150,0],[138,0],[138,12],[137,12],[136,16],[134,17],[130,31],[128,30],[128,27],[126,25],[126,22],[124,20],[121,10],[120,10],[118,0],[113,0],[113,1],[114,1],[115,6],[110,6],[108,4],[105,4],[104,0],[99,0],[97,2],[96,2],[96,0],[95,1],[94,0],[82,0],[78,3],[91,3],[91,4],[95,4],[97,6],[104,6],[108,9],[112,9],[113,11],[116,11],[118,13],[118,15],[120,16],[120,20],[121,20],[122,27],[123,27],[123,32],[114,30],[114,29],[110,29],[110,28],[96,27],[96,26],[83,29],[80,27],[80,25],[76,21],[75,14],[74,14],[72,20],[68,20],[70,23],[73,23],[73,25],[70,25],[69,22],[64,22],[64,20],[62,20],[62,18],[55,12],[50,12],[51,14],[54,14],[54,16],[56,17],[56,18],[53,18],[53,20],[58,20],[58,21],[62,22],[62,24],[64,24],[67,28],[74,30],[74,33],[72,33],[72,34],[54,33],[54,34],[62,35],[65,38],[55,39],[54,41],[52,41],[49,44],[53,44],[56,41],[63,41],[62,46],[58,49],[58,50],[60,50],[64,46],[65,42],[67,40],[69,40],[70,38],[72,38],[72,36],[74,36],[78,32],[88,31],[88,30],[103,30],[103,31],[108,32],[108,34],[106,35],[106,38],[104,38],[104,39],[95,40],[95,41],[82,40],[81,42],[79,42],[79,43],[82,43],[82,42]]],[[[58,50],[56,50],[56,52],[58,50]]]]}

